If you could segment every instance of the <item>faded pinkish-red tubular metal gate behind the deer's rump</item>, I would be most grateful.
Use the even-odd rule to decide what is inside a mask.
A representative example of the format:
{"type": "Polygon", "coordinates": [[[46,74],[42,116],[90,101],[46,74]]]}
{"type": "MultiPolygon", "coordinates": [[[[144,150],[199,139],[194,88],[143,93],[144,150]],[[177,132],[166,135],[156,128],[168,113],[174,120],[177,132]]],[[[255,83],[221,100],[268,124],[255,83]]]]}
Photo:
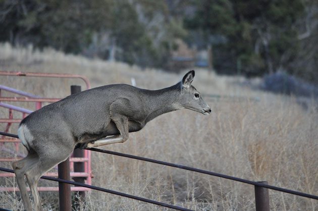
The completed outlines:
{"type": "MultiPolygon", "coordinates": [[[[90,88],[89,80],[80,75],[73,74],[51,74],[51,73],[22,73],[22,72],[5,72],[0,71],[0,75],[4,76],[30,76],[30,77],[50,77],[50,78],[79,78],[82,79],[86,84],[86,89],[90,88]]],[[[28,114],[33,111],[18,107],[16,105],[4,103],[4,102],[34,102],[35,110],[42,108],[44,102],[56,102],[60,100],[60,98],[43,98],[31,93],[27,93],[21,90],[17,90],[11,87],[0,85],[0,107],[8,110],[8,118],[1,117],[0,124],[7,124],[5,126],[5,132],[9,132],[12,124],[19,124],[21,120],[26,117],[28,114]],[[2,92],[9,92],[15,95],[19,95],[19,97],[3,97],[2,92]],[[15,119],[14,114],[20,113],[22,114],[22,119],[15,119]]],[[[19,115],[21,116],[21,115],[19,115]]],[[[6,136],[0,137],[0,150],[6,151],[10,154],[13,154],[14,157],[0,157],[0,162],[13,162],[25,156],[19,151],[20,147],[20,139],[18,138],[8,138],[6,136]],[[6,143],[15,144],[15,150],[9,149],[6,147],[6,143]]],[[[11,147],[12,148],[12,147],[11,147]]],[[[83,157],[74,157],[70,158],[70,176],[73,178],[80,177],[85,178],[86,184],[91,185],[91,167],[90,167],[90,151],[84,150],[83,157]],[[83,162],[84,163],[84,172],[74,172],[74,162],[83,162]]],[[[58,177],[58,172],[48,172],[45,174],[50,177],[58,177]]],[[[0,177],[14,177],[13,173],[0,173],[0,177]]],[[[18,191],[18,188],[15,187],[0,187],[0,191],[18,191]]],[[[38,187],[39,191],[58,191],[59,187],[38,187]]],[[[85,187],[71,187],[72,191],[87,191],[88,188],[85,187]]]]}

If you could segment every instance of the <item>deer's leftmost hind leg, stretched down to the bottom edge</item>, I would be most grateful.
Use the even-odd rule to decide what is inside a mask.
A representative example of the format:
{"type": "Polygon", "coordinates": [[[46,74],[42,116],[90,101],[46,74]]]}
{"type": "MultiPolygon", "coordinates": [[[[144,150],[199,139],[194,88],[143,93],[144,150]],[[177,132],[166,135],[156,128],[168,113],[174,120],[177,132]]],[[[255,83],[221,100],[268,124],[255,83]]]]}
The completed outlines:
{"type": "Polygon", "coordinates": [[[26,210],[32,210],[31,201],[29,198],[29,194],[26,189],[25,181],[24,181],[24,175],[26,171],[35,163],[38,161],[37,154],[33,152],[29,152],[28,155],[19,161],[13,162],[12,167],[14,170],[14,173],[17,178],[17,183],[20,189],[21,198],[23,201],[24,208],[26,210]]]}

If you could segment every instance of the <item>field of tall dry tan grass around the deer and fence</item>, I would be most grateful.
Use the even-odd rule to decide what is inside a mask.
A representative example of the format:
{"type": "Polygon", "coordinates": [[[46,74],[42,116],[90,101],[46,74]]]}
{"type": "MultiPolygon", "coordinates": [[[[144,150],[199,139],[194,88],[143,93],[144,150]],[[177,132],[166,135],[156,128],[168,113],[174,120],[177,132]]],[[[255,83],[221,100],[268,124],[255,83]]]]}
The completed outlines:
{"type": "MultiPolygon", "coordinates": [[[[76,73],[87,76],[92,86],[130,83],[157,89],[178,82],[182,74],[141,70],[122,63],[88,60],[51,49],[0,45],[0,68],[8,71],[76,73]]],[[[240,86],[243,78],[221,77],[198,70],[194,86],[203,94],[246,96],[206,98],[213,114],[189,110],[162,115],[131,133],[124,144],[102,148],[151,157],[232,175],[271,185],[318,194],[318,112],[312,103],[305,110],[293,97],[273,95],[240,86]],[[259,101],[250,97],[258,97],[259,101]]],[[[1,77],[0,84],[47,97],[69,94],[79,80],[43,80],[1,77]]],[[[32,109],[32,104],[26,104],[32,109]]],[[[7,115],[0,110],[0,115],[7,115]]],[[[3,126],[0,125],[0,129],[3,126]]],[[[16,127],[11,130],[16,133],[16,127]]],[[[2,156],[6,155],[1,152],[2,156]]],[[[8,167],[9,164],[1,164],[8,167]]],[[[92,154],[93,185],[195,210],[254,210],[253,186],[203,176],[160,165],[92,154]]],[[[10,178],[0,185],[12,186],[10,178]]],[[[41,182],[41,184],[47,184],[41,182]]],[[[16,186],[16,184],[14,184],[16,186]]],[[[45,210],[56,210],[57,194],[41,193],[45,210]],[[48,197],[49,196],[49,197],[48,197]]],[[[316,210],[318,203],[270,190],[271,210],[316,210]]],[[[22,208],[18,194],[0,193],[0,207],[22,208]]],[[[85,210],[167,210],[155,205],[107,193],[91,191],[85,210]]]]}

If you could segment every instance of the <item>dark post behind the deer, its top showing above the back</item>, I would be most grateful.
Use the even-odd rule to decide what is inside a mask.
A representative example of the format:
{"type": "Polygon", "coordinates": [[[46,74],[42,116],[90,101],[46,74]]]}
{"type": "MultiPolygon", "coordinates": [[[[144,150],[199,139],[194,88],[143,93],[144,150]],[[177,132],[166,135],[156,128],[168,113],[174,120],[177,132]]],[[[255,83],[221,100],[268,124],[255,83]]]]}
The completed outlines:
{"type": "MultiPolygon", "coordinates": [[[[81,92],[81,86],[73,85],[71,86],[71,94],[75,94],[81,92]]],[[[84,157],[84,150],[83,149],[74,149],[73,151],[74,157],[84,157]]],[[[84,162],[74,162],[74,172],[85,172],[85,165],[84,162]]],[[[75,182],[85,183],[85,177],[74,177],[73,180],[75,182]]],[[[85,200],[85,191],[77,191],[75,193],[76,197],[74,199],[74,208],[78,210],[79,201],[85,200]]]]}

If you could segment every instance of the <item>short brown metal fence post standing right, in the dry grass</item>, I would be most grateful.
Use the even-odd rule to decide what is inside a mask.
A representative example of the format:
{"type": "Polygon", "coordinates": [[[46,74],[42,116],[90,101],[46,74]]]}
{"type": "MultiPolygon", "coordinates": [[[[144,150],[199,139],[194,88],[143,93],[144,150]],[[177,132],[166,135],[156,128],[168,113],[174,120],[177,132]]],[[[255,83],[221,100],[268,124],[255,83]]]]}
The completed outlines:
{"type": "MultiPolygon", "coordinates": [[[[266,181],[261,181],[259,183],[267,184],[266,181]]],[[[255,207],[256,211],[270,211],[270,197],[269,189],[254,185],[255,187],[255,207]]]]}

